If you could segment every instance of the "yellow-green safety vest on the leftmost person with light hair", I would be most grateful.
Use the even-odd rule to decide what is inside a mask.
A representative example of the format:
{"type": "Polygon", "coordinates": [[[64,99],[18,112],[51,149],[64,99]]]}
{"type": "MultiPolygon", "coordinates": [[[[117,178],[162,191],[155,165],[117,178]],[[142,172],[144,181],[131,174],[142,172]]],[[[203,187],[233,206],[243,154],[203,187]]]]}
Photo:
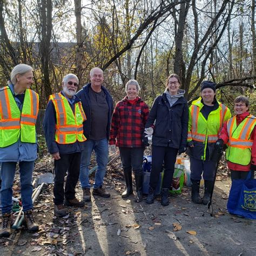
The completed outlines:
{"type": "Polygon", "coordinates": [[[25,90],[22,113],[19,110],[9,86],[0,90],[0,147],[21,142],[36,143],[36,119],[39,110],[38,94],[25,90]]]}

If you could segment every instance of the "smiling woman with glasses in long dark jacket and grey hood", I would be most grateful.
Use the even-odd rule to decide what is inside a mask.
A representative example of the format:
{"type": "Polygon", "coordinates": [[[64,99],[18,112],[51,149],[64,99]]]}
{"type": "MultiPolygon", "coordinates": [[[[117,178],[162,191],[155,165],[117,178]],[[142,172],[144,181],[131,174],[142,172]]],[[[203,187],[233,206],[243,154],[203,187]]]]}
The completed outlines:
{"type": "MultiPolygon", "coordinates": [[[[153,127],[152,169],[147,204],[152,204],[156,197],[155,190],[164,163],[161,205],[169,205],[169,190],[176,157],[178,153],[186,151],[188,106],[184,98],[185,91],[179,89],[180,85],[178,75],[172,74],[168,77],[166,90],[154,100],[145,125],[145,132],[147,128],[153,127]]],[[[146,133],[144,133],[144,144],[147,144],[146,133]]]]}

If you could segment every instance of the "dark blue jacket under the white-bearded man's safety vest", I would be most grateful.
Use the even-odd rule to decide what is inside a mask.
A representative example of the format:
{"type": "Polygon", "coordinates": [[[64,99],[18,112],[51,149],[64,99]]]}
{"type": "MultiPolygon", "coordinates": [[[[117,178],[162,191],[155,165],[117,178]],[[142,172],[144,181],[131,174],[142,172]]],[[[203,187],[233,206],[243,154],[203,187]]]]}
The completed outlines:
{"type": "MultiPolygon", "coordinates": [[[[63,92],[61,93],[63,96],[65,96],[63,92]]],[[[69,100],[69,104],[71,106],[72,111],[75,110],[75,104],[79,101],[80,99],[77,96],[74,96],[72,102],[71,100],[69,100]]],[[[50,154],[57,152],[59,152],[59,154],[71,154],[83,151],[83,142],[76,141],[75,143],[71,144],[59,144],[55,141],[56,122],[57,121],[55,106],[53,105],[52,100],[49,100],[44,114],[43,127],[46,145],[48,147],[50,154]]]]}

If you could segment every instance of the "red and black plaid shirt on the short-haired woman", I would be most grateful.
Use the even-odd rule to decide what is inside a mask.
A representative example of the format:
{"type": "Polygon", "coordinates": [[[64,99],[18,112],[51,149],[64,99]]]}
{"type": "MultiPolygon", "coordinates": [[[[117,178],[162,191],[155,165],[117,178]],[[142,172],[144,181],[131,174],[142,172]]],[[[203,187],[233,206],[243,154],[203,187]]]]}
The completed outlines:
{"type": "Polygon", "coordinates": [[[148,116],[149,107],[139,97],[133,104],[129,102],[127,96],[118,102],[112,117],[110,145],[143,147],[142,135],[148,116]]]}

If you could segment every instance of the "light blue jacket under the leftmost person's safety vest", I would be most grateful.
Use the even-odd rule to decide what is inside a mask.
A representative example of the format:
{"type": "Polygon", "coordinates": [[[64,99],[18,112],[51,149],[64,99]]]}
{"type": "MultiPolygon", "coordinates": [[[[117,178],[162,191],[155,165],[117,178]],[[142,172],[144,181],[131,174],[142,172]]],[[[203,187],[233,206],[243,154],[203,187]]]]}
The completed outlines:
{"type": "MultiPolygon", "coordinates": [[[[9,85],[12,94],[14,95],[14,85],[9,85]]],[[[15,98],[19,110],[22,110],[23,103],[15,98]]],[[[1,162],[17,162],[17,161],[35,161],[37,159],[38,145],[37,143],[18,142],[7,146],[0,147],[1,162]]]]}

